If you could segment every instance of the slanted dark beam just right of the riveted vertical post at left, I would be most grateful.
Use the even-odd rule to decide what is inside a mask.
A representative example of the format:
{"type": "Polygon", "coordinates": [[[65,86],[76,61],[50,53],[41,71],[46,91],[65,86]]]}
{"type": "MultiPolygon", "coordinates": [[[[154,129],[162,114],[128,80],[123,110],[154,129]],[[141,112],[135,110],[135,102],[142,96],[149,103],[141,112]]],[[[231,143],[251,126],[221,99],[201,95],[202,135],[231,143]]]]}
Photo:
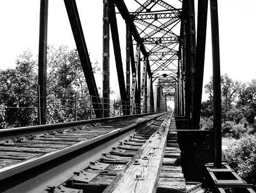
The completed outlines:
{"type": "Polygon", "coordinates": [[[115,56],[115,66],[116,72],[119,82],[119,90],[121,96],[121,105],[123,108],[123,114],[126,113],[126,89],[125,89],[125,78],[124,78],[124,70],[123,70],[123,62],[121,57],[121,49],[120,49],[120,41],[119,41],[119,33],[117,29],[117,22],[115,16],[115,8],[113,0],[109,1],[109,23],[112,34],[112,42],[115,56]]]}

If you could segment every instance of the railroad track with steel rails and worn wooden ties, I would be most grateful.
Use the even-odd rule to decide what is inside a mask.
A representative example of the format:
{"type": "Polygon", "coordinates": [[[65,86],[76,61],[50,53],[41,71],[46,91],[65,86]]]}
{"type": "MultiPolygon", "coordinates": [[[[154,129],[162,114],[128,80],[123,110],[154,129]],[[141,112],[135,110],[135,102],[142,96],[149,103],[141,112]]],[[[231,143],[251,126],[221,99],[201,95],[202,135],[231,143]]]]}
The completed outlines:
{"type": "MultiPolygon", "coordinates": [[[[63,192],[61,188],[77,185],[77,181],[73,182],[74,175],[91,171],[92,165],[125,165],[166,116],[166,113],[154,113],[55,124],[46,128],[30,127],[25,128],[26,131],[17,129],[15,137],[15,129],[0,130],[1,192],[63,192]],[[154,125],[148,126],[151,122],[155,122],[154,125]],[[141,128],[144,129],[139,132],[141,128]]],[[[121,170],[122,166],[119,167],[121,170]]],[[[119,170],[113,171],[111,178],[117,172],[119,170]]],[[[66,189],[65,192],[71,191],[66,189]]]]}

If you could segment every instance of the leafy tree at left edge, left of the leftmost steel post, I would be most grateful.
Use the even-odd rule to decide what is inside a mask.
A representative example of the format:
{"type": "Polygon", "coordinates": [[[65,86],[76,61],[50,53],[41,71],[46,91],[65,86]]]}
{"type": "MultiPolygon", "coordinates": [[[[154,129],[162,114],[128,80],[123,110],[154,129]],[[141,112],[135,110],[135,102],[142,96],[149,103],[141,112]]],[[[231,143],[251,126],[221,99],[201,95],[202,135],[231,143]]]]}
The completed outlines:
{"type": "Polygon", "coordinates": [[[5,106],[1,127],[23,127],[37,123],[36,62],[29,50],[16,59],[15,69],[0,71],[0,105],[5,106]]]}

